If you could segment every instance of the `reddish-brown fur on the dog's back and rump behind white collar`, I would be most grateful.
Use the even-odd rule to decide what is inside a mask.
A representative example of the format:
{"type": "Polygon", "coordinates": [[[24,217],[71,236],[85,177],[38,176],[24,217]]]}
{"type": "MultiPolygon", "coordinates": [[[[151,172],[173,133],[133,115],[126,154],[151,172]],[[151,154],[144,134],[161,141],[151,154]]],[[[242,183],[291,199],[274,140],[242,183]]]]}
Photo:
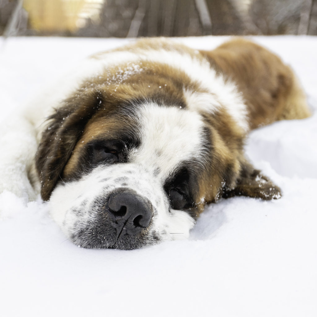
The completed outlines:
{"type": "Polygon", "coordinates": [[[238,38],[201,53],[237,84],[249,109],[251,128],[310,116],[305,94],[290,67],[262,46],[238,38]]]}

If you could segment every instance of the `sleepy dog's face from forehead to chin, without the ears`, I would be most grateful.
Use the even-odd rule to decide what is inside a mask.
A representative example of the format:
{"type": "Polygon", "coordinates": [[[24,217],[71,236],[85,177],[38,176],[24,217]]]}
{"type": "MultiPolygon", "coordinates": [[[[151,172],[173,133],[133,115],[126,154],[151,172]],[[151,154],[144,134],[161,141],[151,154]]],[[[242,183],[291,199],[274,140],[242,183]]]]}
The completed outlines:
{"type": "Polygon", "coordinates": [[[186,238],[194,224],[210,151],[203,121],[176,107],[132,108],[87,123],[50,197],[78,245],[139,248],[186,238]]]}

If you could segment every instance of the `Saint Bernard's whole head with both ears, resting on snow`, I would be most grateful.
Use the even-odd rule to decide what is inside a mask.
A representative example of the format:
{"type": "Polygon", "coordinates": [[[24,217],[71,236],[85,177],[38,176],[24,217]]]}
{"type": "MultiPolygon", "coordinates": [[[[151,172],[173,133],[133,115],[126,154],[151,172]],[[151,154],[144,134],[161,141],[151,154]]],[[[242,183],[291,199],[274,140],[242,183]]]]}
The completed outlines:
{"type": "Polygon", "coordinates": [[[77,245],[182,239],[219,197],[279,195],[244,159],[245,130],[221,100],[157,67],[120,85],[109,71],[86,81],[49,118],[36,157],[41,194],[77,245]]]}

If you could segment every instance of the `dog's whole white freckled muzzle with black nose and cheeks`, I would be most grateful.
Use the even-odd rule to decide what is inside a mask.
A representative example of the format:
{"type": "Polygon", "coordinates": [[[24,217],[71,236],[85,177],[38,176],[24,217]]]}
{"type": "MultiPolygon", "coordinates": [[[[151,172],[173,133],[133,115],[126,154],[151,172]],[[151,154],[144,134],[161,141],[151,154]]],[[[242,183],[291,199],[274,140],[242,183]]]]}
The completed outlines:
{"type": "Polygon", "coordinates": [[[153,171],[132,163],[97,167],[55,188],[51,215],[84,248],[138,249],[185,238],[193,219],[171,210],[162,178],[153,171]]]}

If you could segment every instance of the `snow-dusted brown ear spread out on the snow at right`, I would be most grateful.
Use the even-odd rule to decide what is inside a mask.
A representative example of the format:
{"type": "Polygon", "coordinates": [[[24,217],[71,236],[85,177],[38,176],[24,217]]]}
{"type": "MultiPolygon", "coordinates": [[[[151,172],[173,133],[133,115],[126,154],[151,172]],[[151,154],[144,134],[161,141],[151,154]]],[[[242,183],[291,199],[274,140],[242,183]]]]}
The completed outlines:
{"type": "Polygon", "coordinates": [[[234,189],[225,189],[223,197],[248,196],[265,200],[281,198],[281,189],[256,170],[249,162],[244,162],[234,189]]]}

